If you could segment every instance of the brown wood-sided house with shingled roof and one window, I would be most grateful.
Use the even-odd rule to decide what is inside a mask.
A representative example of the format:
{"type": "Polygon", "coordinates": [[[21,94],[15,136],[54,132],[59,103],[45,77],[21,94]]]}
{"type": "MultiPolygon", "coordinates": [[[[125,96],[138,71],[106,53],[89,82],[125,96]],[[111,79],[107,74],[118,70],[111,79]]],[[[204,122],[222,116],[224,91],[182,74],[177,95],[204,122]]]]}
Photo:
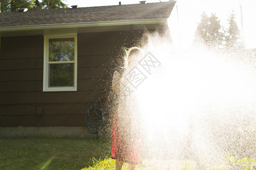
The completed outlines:
{"type": "Polygon", "coordinates": [[[175,1],[0,13],[0,136],[85,134],[122,46],[167,29],[175,1]]]}

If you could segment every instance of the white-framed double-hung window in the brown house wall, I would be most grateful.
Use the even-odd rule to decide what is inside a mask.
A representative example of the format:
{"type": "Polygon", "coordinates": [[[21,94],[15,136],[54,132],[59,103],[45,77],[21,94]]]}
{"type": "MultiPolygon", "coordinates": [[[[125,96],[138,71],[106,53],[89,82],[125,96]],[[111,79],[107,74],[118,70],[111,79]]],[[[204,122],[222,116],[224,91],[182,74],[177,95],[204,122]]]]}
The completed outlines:
{"type": "Polygon", "coordinates": [[[44,36],[43,91],[76,91],[77,35],[44,36]]]}

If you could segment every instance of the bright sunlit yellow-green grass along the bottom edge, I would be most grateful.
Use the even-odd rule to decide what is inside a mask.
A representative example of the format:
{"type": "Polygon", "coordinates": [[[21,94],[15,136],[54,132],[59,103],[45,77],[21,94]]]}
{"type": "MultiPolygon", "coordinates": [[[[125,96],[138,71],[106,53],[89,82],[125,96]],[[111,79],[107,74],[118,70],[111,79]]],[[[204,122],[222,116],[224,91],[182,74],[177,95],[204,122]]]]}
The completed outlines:
{"type": "MultiPolygon", "coordinates": [[[[230,155],[231,156],[231,155],[230,155]]],[[[201,164],[201,163],[200,163],[201,164]]],[[[214,164],[214,163],[213,163],[214,164]]],[[[105,159],[93,159],[93,164],[90,167],[83,168],[81,170],[100,170],[107,169],[111,170],[115,167],[115,160],[111,158],[105,159]]],[[[177,170],[197,170],[197,169],[205,169],[205,170],[224,170],[224,169],[255,169],[256,162],[251,158],[242,158],[239,160],[222,160],[222,163],[218,163],[215,165],[201,165],[199,167],[195,161],[192,160],[144,160],[144,164],[136,165],[135,170],[155,170],[155,169],[177,169],[177,170]]],[[[128,164],[123,165],[123,170],[128,169],[128,164]]]]}

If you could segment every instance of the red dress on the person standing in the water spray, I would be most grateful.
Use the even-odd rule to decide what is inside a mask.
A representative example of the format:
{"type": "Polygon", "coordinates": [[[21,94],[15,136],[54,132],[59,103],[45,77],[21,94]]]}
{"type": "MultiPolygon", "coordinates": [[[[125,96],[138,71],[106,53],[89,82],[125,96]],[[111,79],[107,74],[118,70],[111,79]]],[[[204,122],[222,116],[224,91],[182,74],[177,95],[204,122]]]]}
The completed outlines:
{"type": "MultiPolygon", "coordinates": [[[[118,72],[118,71],[117,71],[118,72]]],[[[113,75],[112,86],[119,82],[121,74],[113,75]]],[[[130,100],[131,101],[131,100],[130,100]]],[[[112,128],[112,159],[118,159],[125,163],[140,164],[141,135],[139,134],[139,118],[135,115],[136,109],[129,102],[119,102],[115,107],[112,128]]]]}

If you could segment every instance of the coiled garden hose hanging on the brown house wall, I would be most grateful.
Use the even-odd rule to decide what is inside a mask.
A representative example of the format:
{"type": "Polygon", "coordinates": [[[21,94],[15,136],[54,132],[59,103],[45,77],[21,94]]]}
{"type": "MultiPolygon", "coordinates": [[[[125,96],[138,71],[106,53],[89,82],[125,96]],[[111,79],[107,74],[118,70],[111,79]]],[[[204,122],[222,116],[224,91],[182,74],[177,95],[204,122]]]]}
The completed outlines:
{"type": "Polygon", "coordinates": [[[92,134],[98,134],[104,126],[105,112],[96,104],[92,105],[85,114],[85,122],[88,131],[92,134]],[[93,117],[92,117],[93,116],[93,117]]]}

